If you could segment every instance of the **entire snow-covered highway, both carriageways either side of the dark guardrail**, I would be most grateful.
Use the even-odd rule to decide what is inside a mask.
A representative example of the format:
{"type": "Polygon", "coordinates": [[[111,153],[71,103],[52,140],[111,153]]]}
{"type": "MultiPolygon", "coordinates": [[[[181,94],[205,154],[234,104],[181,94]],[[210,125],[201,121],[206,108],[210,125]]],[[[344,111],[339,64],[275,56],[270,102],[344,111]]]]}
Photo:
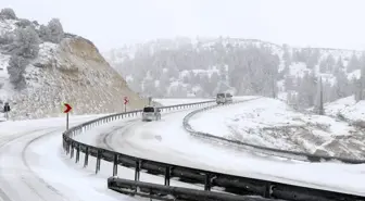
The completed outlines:
{"type": "MultiPolygon", "coordinates": [[[[178,104],[173,100],[169,103],[178,104]]],[[[192,137],[184,130],[182,118],[193,110],[197,108],[163,113],[159,122],[146,123],[140,117],[127,117],[97,126],[75,136],[75,139],[160,162],[365,194],[364,165],[311,164],[218,146],[192,137]]],[[[100,116],[103,115],[71,116],[71,126],[100,116]]],[[[212,128],[215,126],[209,121],[204,124],[212,128]]],[[[4,122],[0,124],[0,201],[21,201],[24,198],[43,201],[149,200],[108,190],[106,178],[112,175],[111,163],[101,161],[101,171],[96,175],[95,158],[89,159],[86,168],[81,163],[76,164],[74,159],[70,160],[61,145],[65,118],[4,122]]],[[[80,153],[80,159],[84,159],[84,153],[80,153]]],[[[118,166],[118,176],[134,179],[134,169],[118,166]]],[[[144,173],[140,179],[164,183],[162,177],[144,173]]],[[[172,180],[171,184],[203,188],[177,180],[172,180]]]]}

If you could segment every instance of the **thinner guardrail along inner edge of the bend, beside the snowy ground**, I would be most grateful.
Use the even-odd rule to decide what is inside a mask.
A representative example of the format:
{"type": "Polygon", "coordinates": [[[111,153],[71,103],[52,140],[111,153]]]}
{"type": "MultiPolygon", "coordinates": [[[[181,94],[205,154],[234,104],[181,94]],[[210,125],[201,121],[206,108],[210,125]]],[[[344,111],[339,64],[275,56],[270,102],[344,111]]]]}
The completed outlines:
{"type": "Polygon", "coordinates": [[[212,135],[212,134],[194,130],[189,123],[190,118],[198,113],[202,113],[202,112],[205,112],[207,110],[213,110],[213,109],[216,109],[216,108],[222,108],[222,106],[228,106],[228,105],[231,105],[231,104],[242,103],[242,102],[247,102],[247,101],[251,101],[251,100],[254,100],[254,99],[237,101],[237,102],[227,103],[227,104],[223,104],[223,105],[211,105],[211,106],[206,106],[206,108],[203,108],[203,109],[196,110],[196,111],[189,113],[188,115],[186,115],[184,117],[184,122],[182,122],[184,128],[187,131],[189,131],[190,134],[192,134],[193,136],[197,136],[197,137],[202,137],[202,138],[215,140],[215,141],[221,142],[221,143],[222,142],[227,142],[229,145],[236,145],[236,146],[238,146],[240,148],[243,148],[246,150],[249,150],[249,151],[259,152],[259,153],[268,154],[268,155],[274,155],[274,156],[280,156],[280,158],[287,158],[287,159],[293,159],[293,160],[300,160],[300,161],[306,161],[306,162],[315,162],[315,163],[325,162],[325,161],[338,161],[338,162],[348,163],[348,164],[363,164],[363,163],[365,163],[365,160],[355,160],[355,159],[312,154],[312,153],[305,153],[305,152],[299,152],[299,151],[288,151],[288,150],[262,147],[262,146],[252,145],[252,143],[248,143],[248,142],[242,142],[242,141],[238,141],[238,140],[227,139],[227,138],[218,137],[218,136],[215,136],[215,135],[212,135]]]}

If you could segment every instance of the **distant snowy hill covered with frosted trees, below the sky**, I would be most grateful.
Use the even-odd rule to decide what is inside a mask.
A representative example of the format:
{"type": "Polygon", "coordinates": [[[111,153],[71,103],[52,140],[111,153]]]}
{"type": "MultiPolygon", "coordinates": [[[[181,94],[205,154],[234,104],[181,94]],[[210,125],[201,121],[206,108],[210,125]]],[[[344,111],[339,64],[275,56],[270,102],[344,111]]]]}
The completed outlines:
{"type": "Polygon", "coordinates": [[[143,95],[212,97],[229,90],[278,97],[302,108],[315,105],[318,77],[325,102],[355,93],[365,66],[361,51],[222,37],[160,39],[103,54],[143,95]]]}

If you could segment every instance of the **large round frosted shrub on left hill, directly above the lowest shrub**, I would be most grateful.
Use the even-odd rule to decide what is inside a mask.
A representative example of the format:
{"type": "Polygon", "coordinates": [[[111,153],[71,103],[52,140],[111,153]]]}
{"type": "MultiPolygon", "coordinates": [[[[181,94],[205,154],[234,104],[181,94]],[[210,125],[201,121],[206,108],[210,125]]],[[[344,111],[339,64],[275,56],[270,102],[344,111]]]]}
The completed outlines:
{"type": "Polygon", "coordinates": [[[17,28],[14,41],[14,52],[26,59],[35,59],[39,52],[39,37],[34,27],[17,28]]]}

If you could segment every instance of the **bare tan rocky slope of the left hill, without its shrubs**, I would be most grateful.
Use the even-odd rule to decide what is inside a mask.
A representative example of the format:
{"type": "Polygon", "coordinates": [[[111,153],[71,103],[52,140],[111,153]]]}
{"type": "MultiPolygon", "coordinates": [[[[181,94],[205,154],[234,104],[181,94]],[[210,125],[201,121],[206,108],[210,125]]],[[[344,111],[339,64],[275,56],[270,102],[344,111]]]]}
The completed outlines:
{"type": "MultiPolygon", "coordinates": [[[[10,27],[7,33],[15,35],[18,22],[2,18],[0,27],[10,27]]],[[[29,26],[39,30],[36,24],[29,26]]],[[[5,47],[0,46],[0,98],[10,102],[11,118],[60,116],[64,102],[73,106],[73,114],[122,112],[125,96],[130,100],[128,110],[140,109],[146,102],[85,38],[65,34],[60,42],[41,40],[37,56],[25,67],[24,88],[12,83],[8,70],[10,58],[15,55],[5,47]]]]}

